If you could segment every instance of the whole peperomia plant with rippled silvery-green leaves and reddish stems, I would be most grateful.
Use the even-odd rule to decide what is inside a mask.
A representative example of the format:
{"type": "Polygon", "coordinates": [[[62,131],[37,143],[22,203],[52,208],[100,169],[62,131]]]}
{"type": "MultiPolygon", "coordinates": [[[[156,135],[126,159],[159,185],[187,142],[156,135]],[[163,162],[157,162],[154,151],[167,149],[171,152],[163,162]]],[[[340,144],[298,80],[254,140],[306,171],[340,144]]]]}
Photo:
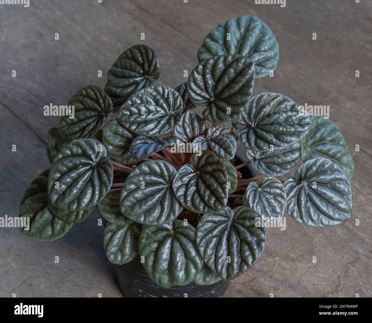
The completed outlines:
{"type": "Polygon", "coordinates": [[[269,27],[247,15],[206,36],[199,64],[176,89],[154,85],[160,68],[153,49],[127,49],[110,67],[105,90],[78,91],[68,103],[74,118],[49,130],[51,167],[22,198],[19,216],[31,227],[21,232],[58,239],[97,205],[108,221],[110,262],[139,253],[150,278],[171,287],[240,276],[262,254],[267,223],[285,212],[313,227],[344,223],[352,214],[354,165],[339,128],[301,113],[285,95],[251,96],[255,78],[278,59],[269,27]],[[230,121],[232,128],[221,125],[230,121]],[[236,164],[237,140],[246,163],[236,164]],[[275,178],[301,156],[293,177],[275,178]],[[263,175],[241,178],[248,163],[263,175]]]}

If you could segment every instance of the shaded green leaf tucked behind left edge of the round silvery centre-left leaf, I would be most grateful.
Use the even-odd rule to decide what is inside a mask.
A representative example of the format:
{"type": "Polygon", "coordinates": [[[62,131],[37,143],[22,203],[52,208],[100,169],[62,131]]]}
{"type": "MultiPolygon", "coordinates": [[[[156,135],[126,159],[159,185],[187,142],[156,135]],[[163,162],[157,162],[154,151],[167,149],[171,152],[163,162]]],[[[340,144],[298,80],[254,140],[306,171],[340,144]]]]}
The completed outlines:
{"type": "Polygon", "coordinates": [[[102,201],[97,204],[99,213],[109,223],[115,224],[116,226],[126,226],[133,223],[133,221],[127,218],[120,211],[120,194],[121,191],[113,191],[107,194],[102,201]]]}

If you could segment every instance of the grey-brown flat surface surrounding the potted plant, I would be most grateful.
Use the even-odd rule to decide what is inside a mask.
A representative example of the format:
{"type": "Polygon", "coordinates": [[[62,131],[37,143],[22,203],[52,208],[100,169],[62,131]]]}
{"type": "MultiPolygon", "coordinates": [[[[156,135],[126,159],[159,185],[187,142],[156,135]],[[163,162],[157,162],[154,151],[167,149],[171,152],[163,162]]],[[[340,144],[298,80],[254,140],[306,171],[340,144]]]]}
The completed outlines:
{"type": "MultiPolygon", "coordinates": [[[[256,80],[254,94],[279,92],[299,104],[330,105],[330,118],[355,161],[354,207],[352,218],[337,227],[310,228],[286,217],[286,230],[269,228],[262,257],[231,282],[226,297],[371,297],[371,13],[369,0],[287,0],[285,8],[254,0],[0,5],[0,216],[17,216],[23,192],[49,167],[47,131],[59,117],[43,116],[44,105],[65,105],[88,84],[103,87],[110,65],[134,44],[155,49],[161,67],[157,83],[175,87],[186,81],[183,71],[197,64],[198,48],[212,28],[257,15],[274,32],[280,59],[274,77],[256,80]]],[[[243,148],[239,152],[244,155],[243,148]]],[[[98,216],[94,211],[55,242],[0,228],[0,296],[122,296],[105,257],[98,216]]]]}

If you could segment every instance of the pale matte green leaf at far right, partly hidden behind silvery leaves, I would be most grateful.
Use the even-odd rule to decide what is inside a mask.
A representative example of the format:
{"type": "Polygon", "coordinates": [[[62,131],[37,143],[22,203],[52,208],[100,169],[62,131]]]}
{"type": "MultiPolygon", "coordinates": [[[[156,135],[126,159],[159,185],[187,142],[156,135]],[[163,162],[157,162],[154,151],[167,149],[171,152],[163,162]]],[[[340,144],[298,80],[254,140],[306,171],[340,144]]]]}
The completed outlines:
{"type": "Polygon", "coordinates": [[[323,157],[337,164],[349,180],[354,174],[354,160],[340,129],[323,116],[312,116],[312,127],[301,145],[304,161],[323,157]]]}

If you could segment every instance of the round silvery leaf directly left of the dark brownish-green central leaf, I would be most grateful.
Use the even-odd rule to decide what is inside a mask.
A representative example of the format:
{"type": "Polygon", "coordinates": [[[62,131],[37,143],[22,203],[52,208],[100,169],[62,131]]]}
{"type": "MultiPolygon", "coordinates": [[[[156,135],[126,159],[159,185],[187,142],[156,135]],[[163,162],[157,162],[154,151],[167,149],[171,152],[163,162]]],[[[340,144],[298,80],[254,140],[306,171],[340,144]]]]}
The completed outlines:
{"type": "Polygon", "coordinates": [[[163,224],[182,211],[171,185],[176,169],[167,161],[150,160],[138,165],[121,190],[122,214],[138,223],[163,224]]]}

